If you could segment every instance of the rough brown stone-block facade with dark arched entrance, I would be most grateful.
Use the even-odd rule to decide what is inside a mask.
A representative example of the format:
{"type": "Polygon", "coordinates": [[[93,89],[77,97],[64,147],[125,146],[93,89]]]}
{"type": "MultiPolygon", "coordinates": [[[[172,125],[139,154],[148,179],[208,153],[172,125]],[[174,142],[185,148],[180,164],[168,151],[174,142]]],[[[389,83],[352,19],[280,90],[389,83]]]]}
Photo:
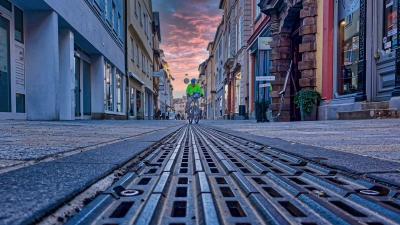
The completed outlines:
{"type": "MultiPolygon", "coordinates": [[[[270,17],[271,66],[269,72],[275,77],[269,96],[270,109],[276,117],[280,105],[279,92],[284,89],[286,74],[292,63],[291,76],[280,121],[300,120],[300,111],[294,104],[295,94],[300,90],[321,90],[322,49],[318,37],[323,26],[318,26],[318,7],[325,1],[318,0],[260,0],[262,13],[270,17]],[[319,4],[318,4],[319,3],[319,4]]],[[[353,1],[349,1],[353,2],[353,1]]]]}

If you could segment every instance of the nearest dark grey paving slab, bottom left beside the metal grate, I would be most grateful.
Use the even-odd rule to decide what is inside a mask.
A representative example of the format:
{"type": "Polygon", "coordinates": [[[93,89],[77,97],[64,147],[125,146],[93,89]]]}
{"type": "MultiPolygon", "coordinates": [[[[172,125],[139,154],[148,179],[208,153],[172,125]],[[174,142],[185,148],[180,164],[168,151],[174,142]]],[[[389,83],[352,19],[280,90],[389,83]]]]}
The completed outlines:
{"type": "Polygon", "coordinates": [[[0,224],[33,223],[115,168],[48,162],[0,174],[0,224]]]}

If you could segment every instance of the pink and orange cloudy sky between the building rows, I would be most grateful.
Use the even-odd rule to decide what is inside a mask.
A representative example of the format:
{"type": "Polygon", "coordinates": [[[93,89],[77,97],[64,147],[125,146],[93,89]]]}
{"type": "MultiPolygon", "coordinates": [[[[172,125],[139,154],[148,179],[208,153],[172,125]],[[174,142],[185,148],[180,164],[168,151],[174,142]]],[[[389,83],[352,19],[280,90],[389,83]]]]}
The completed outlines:
{"type": "Polygon", "coordinates": [[[153,0],[160,12],[161,49],[175,81],[174,98],[185,94],[185,74],[198,78],[199,65],[208,58],[207,46],[214,40],[222,10],[219,0],[153,0]]]}

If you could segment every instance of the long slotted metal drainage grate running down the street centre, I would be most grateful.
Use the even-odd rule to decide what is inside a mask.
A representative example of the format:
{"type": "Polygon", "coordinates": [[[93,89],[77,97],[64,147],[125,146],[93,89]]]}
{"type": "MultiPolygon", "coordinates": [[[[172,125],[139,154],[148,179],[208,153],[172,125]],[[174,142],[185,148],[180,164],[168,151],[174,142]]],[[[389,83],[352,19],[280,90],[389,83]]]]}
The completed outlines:
{"type": "Polygon", "coordinates": [[[186,126],[68,224],[395,224],[400,191],[186,126]]]}

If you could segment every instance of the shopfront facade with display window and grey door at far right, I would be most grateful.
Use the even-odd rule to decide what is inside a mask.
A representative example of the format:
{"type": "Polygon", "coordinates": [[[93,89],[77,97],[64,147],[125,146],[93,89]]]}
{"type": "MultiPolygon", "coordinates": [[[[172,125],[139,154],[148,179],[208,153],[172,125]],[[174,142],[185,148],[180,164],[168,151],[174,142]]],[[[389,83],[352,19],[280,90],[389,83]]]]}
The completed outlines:
{"type": "Polygon", "coordinates": [[[370,109],[365,102],[393,116],[388,107],[400,110],[399,1],[330,0],[321,5],[325,101],[319,119],[370,109]]]}

